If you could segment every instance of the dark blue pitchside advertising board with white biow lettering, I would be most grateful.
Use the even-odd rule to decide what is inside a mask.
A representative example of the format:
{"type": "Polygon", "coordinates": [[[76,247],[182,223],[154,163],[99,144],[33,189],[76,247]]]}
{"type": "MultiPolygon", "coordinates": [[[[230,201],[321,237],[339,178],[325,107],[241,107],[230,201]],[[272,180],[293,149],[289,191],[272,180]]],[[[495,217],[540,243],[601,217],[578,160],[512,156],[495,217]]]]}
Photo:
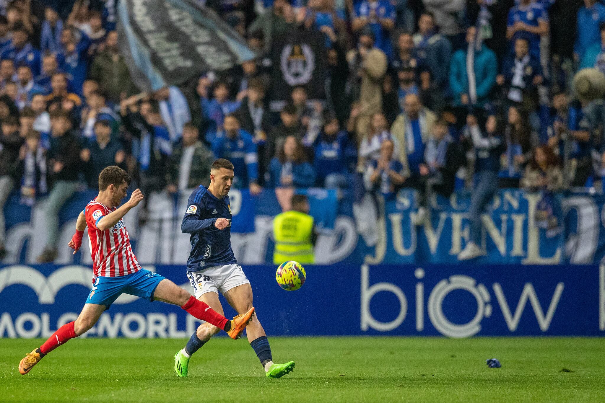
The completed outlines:
{"type": "MultiPolygon", "coordinates": [[[[185,266],[146,268],[191,292],[185,266]]],[[[275,266],[244,271],[269,336],[605,335],[605,267],[594,265],[308,266],[291,292],[276,284],[275,266]]],[[[49,337],[76,319],[91,279],[88,266],[1,266],[0,337],[49,337]]],[[[199,323],[123,294],[85,337],[189,337],[199,323]]]]}

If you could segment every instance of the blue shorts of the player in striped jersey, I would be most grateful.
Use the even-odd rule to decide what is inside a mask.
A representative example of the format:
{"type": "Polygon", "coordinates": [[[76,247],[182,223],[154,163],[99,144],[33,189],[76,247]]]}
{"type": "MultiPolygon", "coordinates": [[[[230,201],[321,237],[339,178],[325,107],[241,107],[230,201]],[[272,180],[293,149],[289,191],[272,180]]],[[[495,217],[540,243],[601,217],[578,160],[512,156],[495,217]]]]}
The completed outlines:
{"type": "Polygon", "coordinates": [[[155,288],[165,278],[146,269],[120,277],[97,277],[86,303],[105,305],[109,309],[120,294],[136,295],[153,301],[155,288]]]}

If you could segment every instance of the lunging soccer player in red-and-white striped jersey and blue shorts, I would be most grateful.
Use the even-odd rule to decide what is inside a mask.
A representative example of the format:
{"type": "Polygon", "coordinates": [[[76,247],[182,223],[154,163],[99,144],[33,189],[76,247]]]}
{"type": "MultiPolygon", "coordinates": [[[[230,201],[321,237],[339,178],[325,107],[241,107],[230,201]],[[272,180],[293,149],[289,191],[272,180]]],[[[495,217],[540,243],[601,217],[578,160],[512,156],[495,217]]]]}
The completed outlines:
{"type": "Polygon", "coordinates": [[[163,301],[178,305],[194,317],[212,323],[231,338],[239,338],[250,322],[254,308],[227,320],[206,303],[195,299],[189,292],[157,273],[141,268],[132,253],[130,237],[123,216],[143,200],[139,189],[132,192],[129,201],[117,207],[126,196],[130,177],[116,166],[106,167],[99,175],[99,196],[88,203],[77,219],[76,234],[69,246],[74,253],[82,245],[82,234],[88,227],[91,257],[93,258],[93,289],[76,321],[64,324],[42,346],[27,353],[19,363],[22,375],[49,352],[68,340],[84,334],[94,326],[100,315],[122,293],[137,295],[149,301],[163,301]]]}

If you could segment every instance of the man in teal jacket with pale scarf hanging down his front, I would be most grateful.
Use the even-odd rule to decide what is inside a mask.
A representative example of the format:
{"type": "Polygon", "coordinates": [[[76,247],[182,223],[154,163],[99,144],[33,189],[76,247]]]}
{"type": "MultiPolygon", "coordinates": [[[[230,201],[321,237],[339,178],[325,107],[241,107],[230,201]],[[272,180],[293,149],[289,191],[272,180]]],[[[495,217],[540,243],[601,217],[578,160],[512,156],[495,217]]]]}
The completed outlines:
{"type": "MultiPolygon", "coordinates": [[[[477,28],[466,30],[466,42],[476,40],[477,28]]],[[[479,50],[473,45],[473,73],[475,82],[469,82],[469,71],[466,64],[468,47],[457,50],[450,66],[450,88],[454,96],[454,105],[484,106],[489,100],[489,92],[495,84],[498,63],[495,53],[481,44],[479,50]],[[474,93],[473,93],[474,92],[474,93]]]]}

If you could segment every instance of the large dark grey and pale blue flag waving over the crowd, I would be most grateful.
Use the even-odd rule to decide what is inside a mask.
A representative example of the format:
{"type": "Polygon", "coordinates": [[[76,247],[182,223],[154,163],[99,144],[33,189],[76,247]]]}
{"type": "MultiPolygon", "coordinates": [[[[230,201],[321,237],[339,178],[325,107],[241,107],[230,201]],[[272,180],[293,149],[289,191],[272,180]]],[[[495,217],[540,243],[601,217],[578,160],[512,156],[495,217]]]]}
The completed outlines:
{"type": "Polygon", "coordinates": [[[194,0],[123,0],[117,11],[120,51],[143,91],[255,57],[233,28],[194,0]]]}

